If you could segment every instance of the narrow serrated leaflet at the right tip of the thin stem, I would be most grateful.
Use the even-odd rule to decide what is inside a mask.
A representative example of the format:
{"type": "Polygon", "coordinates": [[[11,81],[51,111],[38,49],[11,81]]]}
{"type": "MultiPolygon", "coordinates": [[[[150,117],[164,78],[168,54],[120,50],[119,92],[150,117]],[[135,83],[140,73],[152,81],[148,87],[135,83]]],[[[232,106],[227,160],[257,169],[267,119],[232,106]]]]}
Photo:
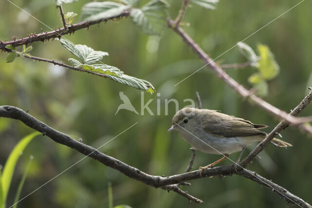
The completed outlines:
{"type": "Polygon", "coordinates": [[[153,87],[153,85],[143,79],[138,79],[136,77],[128,75],[122,75],[121,77],[107,75],[107,77],[121,84],[125,84],[130,87],[136,88],[138,90],[144,90],[149,93],[155,93],[155,88],[153,87]]]}

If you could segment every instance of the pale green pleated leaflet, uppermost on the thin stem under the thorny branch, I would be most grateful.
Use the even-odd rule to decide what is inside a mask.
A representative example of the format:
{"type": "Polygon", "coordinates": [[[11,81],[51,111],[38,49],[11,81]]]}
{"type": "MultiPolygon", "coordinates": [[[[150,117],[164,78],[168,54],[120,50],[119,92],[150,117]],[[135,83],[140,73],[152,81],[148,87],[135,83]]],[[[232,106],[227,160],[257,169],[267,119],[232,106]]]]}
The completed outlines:
{"type": "Polygon", "coordinates": [[[107,52],[95,51],[86,45],[75,45],[65,39],[60,39],[59,41],[67,50],[78,57],[82,61],[82,64],[96,63],[104,56],[108,56],[107,52]]]}

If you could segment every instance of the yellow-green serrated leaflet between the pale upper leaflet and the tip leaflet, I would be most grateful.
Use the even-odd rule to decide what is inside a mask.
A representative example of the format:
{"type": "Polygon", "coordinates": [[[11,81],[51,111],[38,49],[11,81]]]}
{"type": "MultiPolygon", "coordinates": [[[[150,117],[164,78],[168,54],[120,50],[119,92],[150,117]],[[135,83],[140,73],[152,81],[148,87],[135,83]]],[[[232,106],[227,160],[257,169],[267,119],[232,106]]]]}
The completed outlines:
{"type": "Polygon", "coordinates": [[[94,65],[80,65],[83,70],[96,72],[102,75],[111,75],[111,76],[122,76],[121,72],[117,67],[106,65],[106,64],[94,64],[94,65]]]}

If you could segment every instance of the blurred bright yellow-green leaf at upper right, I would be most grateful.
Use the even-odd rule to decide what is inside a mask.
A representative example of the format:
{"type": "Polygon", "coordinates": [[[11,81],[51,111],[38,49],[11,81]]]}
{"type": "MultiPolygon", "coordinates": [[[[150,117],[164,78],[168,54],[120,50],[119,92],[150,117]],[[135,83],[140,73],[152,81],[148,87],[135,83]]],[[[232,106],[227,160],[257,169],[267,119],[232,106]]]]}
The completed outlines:
{"type": "Polygon", "coordinates": [[[258,44],[257,47],[260,54],[258,69],[263,78],[271,80],[278,75],[279,66],[268,46],[258,44]]]}

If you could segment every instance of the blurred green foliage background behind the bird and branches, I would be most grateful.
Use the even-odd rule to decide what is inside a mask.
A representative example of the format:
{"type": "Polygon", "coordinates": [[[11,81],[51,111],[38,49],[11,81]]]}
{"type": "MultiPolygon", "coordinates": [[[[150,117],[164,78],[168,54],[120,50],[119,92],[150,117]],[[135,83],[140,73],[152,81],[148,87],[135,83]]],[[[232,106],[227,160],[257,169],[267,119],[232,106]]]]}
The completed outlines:
{"type": "MultiPolygon", "coordinates": [[[[88,0],[63,4],[64,13],[80,15],[81,7],[88,0]]],[[[217,57],[238,41],[253,34],[259,28],[278,17],[299,1],[220,1],[215,10],[194,5],[188,8],[183,22],[189,22],[185,31],[211,56],[217,57]]],[[[54,0],[15,0],[20,6],[51,28],[61,26],[59,10],[54,0]]],[[[141,0],[138,8],[147,3],[141,0]]],[[[170,0],[168,12],[176,17],[181,1],[170,0]]],[[[261,43],[270,47],[279,64],[277,77],[268,80],[269,94],[265,100],[290,112],[306,95],[306,87],[312,85],[312,2],[304,1],[276,19],[250,38],[244,40],[253,49],[261,43]]],[[[0,39],[27,37],[27,33],[50,31],[51,28],[28,16],[9,1],[0,1],[0,39]]],[[[73,20],[76,23],[78,18],[73,20]]],[[[86,44],[96,51],[107,51],[105,63],[116,66],[127,75],[150,81],[156,94],[141,95],[136,89],[112,82],[109,79],[66,70],[43,62],[16,58],[5,63],[7,53],[0,54],[0,105],[13,105],[29,113],[58,131],[95,148],[115,137],[131,125],[138,124],[117,136],[100,151],[153,175],[171,175],[183,172],[189,162],[190,146],[177,132],[167,133],[175,104],[170,103],[168,115],[164,115],[165,99],[175,98],[179,108],[189,105],[184,99],[195,99],[195,91],[201,96],[203,107],[267,124],[269,132],[279,122],[226,86],[209,69],[202,69],[190,78],[174,85],[203,66],[203,62],[181,41],[172,30],[165,29],[161,37],[147,36],[131,23],[131,19],[108,21],[66,35],[75,44],[86,44]],[[139,114],[120,110],[119,92],[129,97],[139,114]],[[158,94],[157,94],[158,93],[158,94]],[[140,115],[141,96],[155,115],[146,110],[140,115]],[[157,101],[160,115],[157,115],[157,101]]],[[[66,62],[68,52],[57,41],[35,42],[32,55],[66,62]]],[[[17,48],[22,51],[22,48],[17,48]]],[[[255,50],[256,51],[256,50],[255,50]]],[[[245,62],[237,47],[216,59],[218,63],[245,62]]],[[[253,67],[227,71],[243,84],[253,87],[248,77],[258,73],[253,67]]],[[[309,106],[301,115],[311,115],[309,106]]],[[[21,137],[33,132],[19,121],[0,118],[0,164],[4,164],[10,151],[21,137]]],[[[310,174],[312,172],[311,138],[296,128],[282,132],[283,139],[292,143],[288,149],[266,148],[248,168],[257,171],[273,182],[311,201],[310,174]]],[[[247,155],[245,152],[244,156],[247,155]]],[[[239,153],[230,157],[236,160],[239,153]]],[[[20,178],[26,168],[29,155],[34,155],[28,177],[20,197],[26,196],[84,156],[70,148],[56,144],[47,137],[32,142],[13,175],[7,205],[13,204],[20,178]]],[[[218,155],[198,152],[194,170],[219,159],[218,155]]],[[[221,165],[231,164],[224,161],[221,165]]],[[[112,182],[114,204],[135,208],[194,207],[194,203],[173,192],[154,189],[129,179],[117,170],[104,167],[86,158],[59,177],[37,190],[23,201],[25,208],[100,208],[108,205],[108,182],[112,182]]],[[[191,187],[183,187],[202,199],[198,208],[220,207],[282,207],[285,201],[270,189],[241,177],[219,177],[191,181],[191,187]]]]}

